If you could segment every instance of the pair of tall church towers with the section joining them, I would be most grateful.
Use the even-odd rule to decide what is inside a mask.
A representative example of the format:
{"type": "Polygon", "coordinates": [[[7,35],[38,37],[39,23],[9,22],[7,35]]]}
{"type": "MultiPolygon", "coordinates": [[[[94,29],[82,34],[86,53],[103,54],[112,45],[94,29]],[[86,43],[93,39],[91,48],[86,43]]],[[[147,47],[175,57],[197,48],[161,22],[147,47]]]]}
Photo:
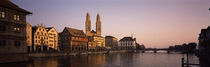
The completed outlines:
{"type": "Polygon", "coordinates": [[[87,36],[101,36],[101,20],[100,15],[97,14],[96,18],[96,32],[94,30],[91,31],[91,20],[90,20],[90,13],[87,13],[86,22],[85,22],[85,30],[87,36]]]}

